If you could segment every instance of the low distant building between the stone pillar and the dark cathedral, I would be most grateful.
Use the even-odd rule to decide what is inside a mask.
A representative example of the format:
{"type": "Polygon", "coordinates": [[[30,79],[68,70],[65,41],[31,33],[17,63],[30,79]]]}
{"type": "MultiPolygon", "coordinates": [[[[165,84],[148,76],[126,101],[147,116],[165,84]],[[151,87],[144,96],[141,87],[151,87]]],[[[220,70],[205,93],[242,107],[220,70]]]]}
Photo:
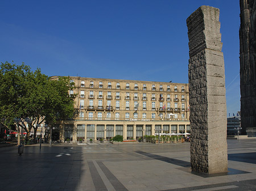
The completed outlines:
{"type": "Polygon", "coordinates": [[[241,116],[240,116],[240,112],[237,112],[236,116],[233,113],[233,116],[227,118],[227,135],[237,135],[238,134],[238,130],[241,133],[241,116]]]}

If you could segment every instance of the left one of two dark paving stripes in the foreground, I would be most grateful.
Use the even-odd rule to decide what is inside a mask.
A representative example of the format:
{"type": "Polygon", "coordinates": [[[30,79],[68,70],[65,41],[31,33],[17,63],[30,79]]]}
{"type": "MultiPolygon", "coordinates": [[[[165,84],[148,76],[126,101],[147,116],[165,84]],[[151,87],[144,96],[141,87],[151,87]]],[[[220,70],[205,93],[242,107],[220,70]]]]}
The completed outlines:
{"type": "Polygon", "coordinates": [[[87,163],[90,169],[90,174],[92,175],[92,180],[96,191],[108,191],[93,162],[88,161],[87,163]]]}

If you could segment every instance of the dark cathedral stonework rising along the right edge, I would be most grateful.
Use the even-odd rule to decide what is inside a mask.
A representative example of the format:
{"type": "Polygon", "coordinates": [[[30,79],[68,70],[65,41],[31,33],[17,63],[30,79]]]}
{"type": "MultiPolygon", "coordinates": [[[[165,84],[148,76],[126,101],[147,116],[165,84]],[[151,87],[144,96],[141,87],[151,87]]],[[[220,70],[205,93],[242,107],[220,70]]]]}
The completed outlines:
{"type": "Polygon", "coordinates": [[[240,0],[240,91],[242,134],[256,135],[256,1],[240,0]]]}

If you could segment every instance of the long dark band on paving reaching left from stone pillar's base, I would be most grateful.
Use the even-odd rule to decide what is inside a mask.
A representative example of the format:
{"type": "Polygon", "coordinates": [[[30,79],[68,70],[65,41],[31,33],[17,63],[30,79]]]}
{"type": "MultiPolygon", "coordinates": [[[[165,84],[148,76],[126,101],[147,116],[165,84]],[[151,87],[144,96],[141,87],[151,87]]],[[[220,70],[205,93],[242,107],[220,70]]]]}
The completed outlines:
{"type": "Polygon", "coordinates": [[[166,163],[179,165],[181,167],[191,167],[191,164],[189,162],[184,161],[184,160],[172,159],[172,158],[168,158],[166,156],[155,155],[155,154],[151,154],[151,153],[143,152],[143,151],[135,151],[135,152],[137,152],[138,154],[142,154],[144,156],[148,156],[152,159],[161,160],[161,161],[166,162],[166,163]]]}

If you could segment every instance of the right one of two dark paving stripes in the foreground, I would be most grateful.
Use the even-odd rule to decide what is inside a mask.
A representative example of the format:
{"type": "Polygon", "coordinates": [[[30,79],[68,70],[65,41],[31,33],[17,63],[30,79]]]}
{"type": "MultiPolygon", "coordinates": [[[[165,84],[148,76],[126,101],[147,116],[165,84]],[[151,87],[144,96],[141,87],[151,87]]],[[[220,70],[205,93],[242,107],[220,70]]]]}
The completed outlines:
{"type": "Polygon", "coordinates": [[[128,191],[125,186],[113,175],[112,172],[103,164],[102,162],[97,162],[101,170],[105,173],[106,177],[109,179],[110,183],[114,186],[115,190],[118,191],[128,191]]]}

